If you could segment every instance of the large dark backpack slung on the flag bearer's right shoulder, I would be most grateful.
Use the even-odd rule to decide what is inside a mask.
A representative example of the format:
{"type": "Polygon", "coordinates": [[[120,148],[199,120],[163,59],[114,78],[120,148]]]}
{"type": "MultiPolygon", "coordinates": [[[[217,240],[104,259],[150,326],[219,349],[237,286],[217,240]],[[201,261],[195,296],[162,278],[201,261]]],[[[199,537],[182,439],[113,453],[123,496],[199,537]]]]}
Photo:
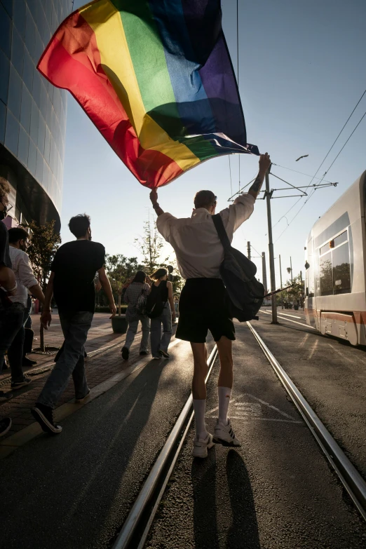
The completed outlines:
{"type": "Polygon", "coordinates": [[[224,247],[224,261],[219,271],[226,287],[231,316],[239,322],[258,320],[257,312],[264,299],[264,285],[255,278],[257,267],[239,250],[232,248],[221,216],[212,215],[212,221],[224,247]]]}

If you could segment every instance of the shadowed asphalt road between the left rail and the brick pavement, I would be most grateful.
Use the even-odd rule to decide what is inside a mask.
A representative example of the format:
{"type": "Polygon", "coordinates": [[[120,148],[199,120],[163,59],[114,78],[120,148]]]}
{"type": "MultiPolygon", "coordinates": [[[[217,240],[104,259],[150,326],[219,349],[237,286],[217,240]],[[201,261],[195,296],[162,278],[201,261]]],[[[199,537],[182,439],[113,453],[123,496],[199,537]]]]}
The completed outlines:
{"type": "Polygon", "coordinates": [[[109,547],[191,390],[189,344],[171,354],[0,461],[1,549],[109,547]]]}

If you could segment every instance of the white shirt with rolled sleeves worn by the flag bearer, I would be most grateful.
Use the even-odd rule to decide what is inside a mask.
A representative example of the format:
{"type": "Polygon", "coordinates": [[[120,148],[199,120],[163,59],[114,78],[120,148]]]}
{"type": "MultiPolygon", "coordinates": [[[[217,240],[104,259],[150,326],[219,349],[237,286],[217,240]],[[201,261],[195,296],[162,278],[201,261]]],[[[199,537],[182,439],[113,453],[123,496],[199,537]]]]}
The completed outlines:
{"type": "MultiPolygon", "coordinates": [[[[229,208],[219,212],[230,242],[236,229],[252,215],[254,203],[252,195],[241,194],[229,208]]],[[[165,212],[158,216],[156,226],[174,248],[183,278],[219,278],[224,248],[208,210],[197,208],[191,217],[182,219],[165,212]]]]}

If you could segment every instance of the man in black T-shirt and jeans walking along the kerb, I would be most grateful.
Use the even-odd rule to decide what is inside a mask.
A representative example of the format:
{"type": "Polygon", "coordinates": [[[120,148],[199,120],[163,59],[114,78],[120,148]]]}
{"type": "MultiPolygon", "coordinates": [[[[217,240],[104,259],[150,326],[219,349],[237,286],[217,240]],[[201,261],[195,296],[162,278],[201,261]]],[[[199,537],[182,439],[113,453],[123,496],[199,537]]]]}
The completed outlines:
{"type": "Polygon", "coordinates": [[[65,336],[64,350],[32,409],[32,415],[48,433],[62,431],[62,427],[53,422],[53,408],[71,375],[76,402],[82,402],[90,393],[84,366],[84,344],[95,311],[95,272],[107,294],[111,315],[116,315],[111,285],[104,271],[104,246],[91,242],[90,217],[85,214],[72,217],[69,229],[76,240],[62,245],[56,252],[41,315],[41,323],[47,330],[51,322],[50,302],[54,295],[65,336]]]}

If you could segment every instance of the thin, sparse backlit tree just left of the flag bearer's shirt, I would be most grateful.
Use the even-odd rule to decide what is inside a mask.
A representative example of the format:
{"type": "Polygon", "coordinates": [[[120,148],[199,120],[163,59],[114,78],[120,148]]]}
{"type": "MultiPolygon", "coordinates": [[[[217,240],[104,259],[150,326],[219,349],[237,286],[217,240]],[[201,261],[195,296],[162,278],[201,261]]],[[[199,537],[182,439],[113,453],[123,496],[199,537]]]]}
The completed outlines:
{"type": "Polygon", "coordinates": [[[144,268],[151,274],[158,267],[164,266],[168,262],[168,257],[161,259],[161,254],[164,248],[164,240],[156,229],[156,223],[150,222],[150,219],[144,222],[144,233],[142,236],[135,238],[135,247],[140,250],[142,255],[144,268]]]}

